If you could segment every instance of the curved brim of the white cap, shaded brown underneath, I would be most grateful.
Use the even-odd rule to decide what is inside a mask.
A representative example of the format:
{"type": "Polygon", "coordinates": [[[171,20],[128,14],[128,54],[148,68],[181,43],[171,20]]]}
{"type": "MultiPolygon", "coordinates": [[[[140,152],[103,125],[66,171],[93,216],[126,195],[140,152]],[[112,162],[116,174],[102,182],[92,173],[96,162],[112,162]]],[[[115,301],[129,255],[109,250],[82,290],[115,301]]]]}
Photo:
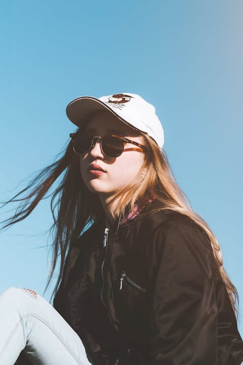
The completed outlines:
{"type": "Polygon", "coordinates": [[[129,127],[139,130],[138,128],[132,126],[126,120],[124,120],[119,114],[108,107],[103,101],[93,97],[93,96],[81,96],[72,100],[66,108],[66,114],[69,120],[78,127],[81,127],[85,118],[92,112],[98,110],[109,110],[118,119],[129,127]]]}

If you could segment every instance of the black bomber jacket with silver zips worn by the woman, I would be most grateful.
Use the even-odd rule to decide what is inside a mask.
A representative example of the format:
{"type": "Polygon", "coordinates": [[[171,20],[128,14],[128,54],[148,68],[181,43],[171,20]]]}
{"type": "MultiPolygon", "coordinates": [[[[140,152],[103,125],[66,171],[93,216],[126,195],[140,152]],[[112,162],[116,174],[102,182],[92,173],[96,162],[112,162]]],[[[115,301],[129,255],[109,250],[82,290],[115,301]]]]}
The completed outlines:
{"type": "Polygon", "coordinates": [[[205,231],[150,206],[72,245],[53,301],[94,365],[239,365],[243,341],[205,231]],[[118,360],[119,359],[119,360],[118,360]]]}

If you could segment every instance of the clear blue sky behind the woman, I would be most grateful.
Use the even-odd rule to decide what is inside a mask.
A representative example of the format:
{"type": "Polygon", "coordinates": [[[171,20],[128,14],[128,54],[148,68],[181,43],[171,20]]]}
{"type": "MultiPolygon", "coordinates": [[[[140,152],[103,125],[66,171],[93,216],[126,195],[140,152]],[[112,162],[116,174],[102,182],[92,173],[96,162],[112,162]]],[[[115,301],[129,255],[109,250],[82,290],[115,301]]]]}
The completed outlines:
{"type": "MultiPolygon", "coordinates": [[[[221,244],[243,334],[243,2],[10,0],[0,7],[0,201],[66,143],[75,129],[65,114],[70,100],[140,94],[156,107],[177,183],[221,244]]],[[[0,233],[0,292],[19,286],[43,294],[49,205],[0,233]]],[[[10,214],[1,211],[0,219],[10,214]]]]}

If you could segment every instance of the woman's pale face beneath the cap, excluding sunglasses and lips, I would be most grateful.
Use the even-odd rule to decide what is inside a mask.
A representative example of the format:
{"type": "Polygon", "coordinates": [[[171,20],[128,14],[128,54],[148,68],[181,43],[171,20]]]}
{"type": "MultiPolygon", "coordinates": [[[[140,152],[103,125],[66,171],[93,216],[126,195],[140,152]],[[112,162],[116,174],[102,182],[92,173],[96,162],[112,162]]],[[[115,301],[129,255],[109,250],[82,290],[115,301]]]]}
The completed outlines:
{"type": "MultiPolygon", "coordinates": [[[[95,112],[87,123],[86,131],[92,136],[105,136],[116,134],[144,145],[142,136],[135,129],[127,126],[112,113],[106,110],[95,112]]],[[[101,150],[99,142],[87,152],[80,155],[81,175],[87,188],[108,198],[121,191],[134,180],[144,162],[144,152],[139,146],[129,143],[124,145],[124,150],[119,157],[106,157],[101,150]],[[99,165],[104,172],[94,175],[89,171],[90,164],[99,165]]]]}

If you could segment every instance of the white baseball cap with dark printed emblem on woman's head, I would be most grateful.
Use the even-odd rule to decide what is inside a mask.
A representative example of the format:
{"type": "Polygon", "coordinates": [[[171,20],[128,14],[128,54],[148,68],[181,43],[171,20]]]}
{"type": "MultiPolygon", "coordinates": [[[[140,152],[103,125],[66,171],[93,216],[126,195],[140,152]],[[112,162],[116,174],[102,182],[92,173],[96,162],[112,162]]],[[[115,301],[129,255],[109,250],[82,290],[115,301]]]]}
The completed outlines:
{"type": "Polygon", "coordinates": [[[164,131],[155,107],[137,94],[123,92],[95,98],[81,96],[72,100],[66,113],[72,123],[82,127],[84,118],[93,111],[109,110],[122,122],[152,137],[159,148],[164,144],[164,131]]]}

